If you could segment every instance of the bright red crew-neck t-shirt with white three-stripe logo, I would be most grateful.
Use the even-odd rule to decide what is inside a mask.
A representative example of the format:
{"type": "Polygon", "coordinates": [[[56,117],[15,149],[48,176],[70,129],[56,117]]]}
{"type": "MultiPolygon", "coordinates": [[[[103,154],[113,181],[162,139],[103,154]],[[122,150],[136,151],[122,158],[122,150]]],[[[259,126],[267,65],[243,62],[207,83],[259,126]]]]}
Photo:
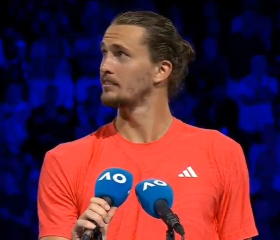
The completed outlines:
{"type": "MultiPolygon", "coordinates": [[[[74,223],[94,196],[97,177],[111,167],[130,171],[133,187],[147,178],[169,183],[172,209],[188,240],[258,235],[240,145],[217,131],[174,119],[168,132],[151,143],[131,143],[110,123],[46,153],[39,181],[39,237],[71,239],[74,223]]],[[[107,239],[165,239],[165,233],[166,225],[145,213],[132,190],[109,224],[107,239]]]]}

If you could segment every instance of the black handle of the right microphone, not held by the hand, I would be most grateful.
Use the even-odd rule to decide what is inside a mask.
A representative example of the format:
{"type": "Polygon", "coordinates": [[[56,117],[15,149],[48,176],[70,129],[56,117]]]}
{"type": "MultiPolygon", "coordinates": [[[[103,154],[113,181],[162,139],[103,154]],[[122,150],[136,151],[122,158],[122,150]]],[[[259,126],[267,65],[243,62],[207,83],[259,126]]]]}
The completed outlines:
{"type": "Polygon", "coordinates": [[[164,223],[183,236],[185,234],[184,227],[181,225],[179,218],[168,206],[165,199],[159,199],[154,203],[154,208],[164,223]]]}

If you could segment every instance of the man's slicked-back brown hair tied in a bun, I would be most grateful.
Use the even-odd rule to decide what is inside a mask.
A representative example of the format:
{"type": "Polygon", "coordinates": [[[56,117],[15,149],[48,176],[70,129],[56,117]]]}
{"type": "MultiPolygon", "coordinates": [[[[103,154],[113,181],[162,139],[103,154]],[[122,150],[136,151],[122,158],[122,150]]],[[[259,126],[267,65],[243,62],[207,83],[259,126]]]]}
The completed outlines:
{"type": "Polygon", "coordinates": [[[180,90],[182,80],[188,73],[188,63],[194,60],[195,53],[190,43],[180,36],[172,22],[150,11],[125,12],[112,21],[116,25],[136,25],[146,29],[144,41],[154,63],[168,60],[173,69],[168,80],[168,97],[180,90]]]}

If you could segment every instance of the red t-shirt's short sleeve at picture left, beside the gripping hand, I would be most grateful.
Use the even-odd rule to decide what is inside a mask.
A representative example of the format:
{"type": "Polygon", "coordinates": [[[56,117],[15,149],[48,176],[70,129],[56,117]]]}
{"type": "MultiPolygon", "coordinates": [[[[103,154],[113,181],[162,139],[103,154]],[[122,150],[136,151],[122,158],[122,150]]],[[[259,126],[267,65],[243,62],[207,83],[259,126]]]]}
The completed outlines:
{"type": "Polygon", "coordinates": [[[58,236],[71,239],[78,218],[73,174],[65,172],[51,152],[45,156],[38,189],[39,238],[58,236]]]}

